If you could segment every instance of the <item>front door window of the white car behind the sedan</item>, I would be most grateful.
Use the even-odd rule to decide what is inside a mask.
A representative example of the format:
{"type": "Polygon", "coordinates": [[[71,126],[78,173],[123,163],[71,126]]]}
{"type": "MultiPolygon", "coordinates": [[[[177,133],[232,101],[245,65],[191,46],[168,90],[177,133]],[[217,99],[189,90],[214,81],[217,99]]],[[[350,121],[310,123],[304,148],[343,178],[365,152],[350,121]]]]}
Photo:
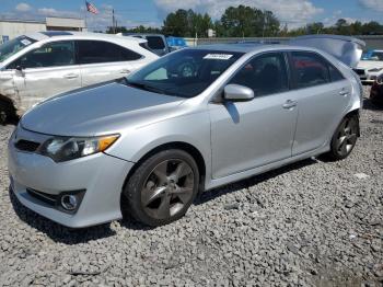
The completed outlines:
{"type": "Polygon", "coordinates": [[[10,65],[9,68],[15,69],[18,66],[23,69],[60,67],[74,65],[74,43],[67,41],[49,43],[40,48],[31,50],[10,65]]]}

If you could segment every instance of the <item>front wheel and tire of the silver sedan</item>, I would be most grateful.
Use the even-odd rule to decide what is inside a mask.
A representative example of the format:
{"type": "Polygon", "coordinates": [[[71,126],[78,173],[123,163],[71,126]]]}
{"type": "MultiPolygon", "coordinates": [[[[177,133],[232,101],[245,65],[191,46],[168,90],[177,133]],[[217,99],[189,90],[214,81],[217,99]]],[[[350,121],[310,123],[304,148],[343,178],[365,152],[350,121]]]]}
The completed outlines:
{"type": "Polygon", "coordinates": [[[194,158],[183,150],[169,149],[137,168],[123,191],[123,203],[144,225],[167,225],[186,214],[198,185],[199,171],[194,158]]]}

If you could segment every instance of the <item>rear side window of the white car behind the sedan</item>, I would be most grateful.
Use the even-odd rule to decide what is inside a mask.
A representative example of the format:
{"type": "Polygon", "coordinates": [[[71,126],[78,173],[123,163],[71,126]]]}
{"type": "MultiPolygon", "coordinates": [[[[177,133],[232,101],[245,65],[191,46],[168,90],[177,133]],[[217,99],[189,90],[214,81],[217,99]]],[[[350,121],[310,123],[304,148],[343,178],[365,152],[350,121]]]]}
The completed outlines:
{"type": "Polygon", "coordinates": [[[142,56],[119,45],[102,41],[79,41],[80,64],[97,64],[138,60],[142,56]]]}

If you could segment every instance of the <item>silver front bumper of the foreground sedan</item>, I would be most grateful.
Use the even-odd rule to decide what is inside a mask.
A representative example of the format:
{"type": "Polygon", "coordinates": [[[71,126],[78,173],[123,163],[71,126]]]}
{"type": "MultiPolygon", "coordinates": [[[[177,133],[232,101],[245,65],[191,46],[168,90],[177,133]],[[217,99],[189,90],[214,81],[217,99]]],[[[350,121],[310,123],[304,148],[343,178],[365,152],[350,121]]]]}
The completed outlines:
{"type": "Polygon", "coordinates": [[[25,207],[70,228],[83,228],[121,218],[120,194],[132,162],[97,153],[56,163],[33,152],[8,146],[11,188],[25,207]],[[49,195],[85,191],[76,211],[68,214],[31,196],[27,190],[49,195]]]}

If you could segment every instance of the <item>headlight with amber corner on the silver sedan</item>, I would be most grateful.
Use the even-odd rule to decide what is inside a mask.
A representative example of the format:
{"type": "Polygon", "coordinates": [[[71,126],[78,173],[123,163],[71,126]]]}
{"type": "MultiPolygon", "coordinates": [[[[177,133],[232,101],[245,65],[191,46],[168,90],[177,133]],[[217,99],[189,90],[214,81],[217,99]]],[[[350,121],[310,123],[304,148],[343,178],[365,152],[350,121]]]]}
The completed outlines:
{"type": "Polygon", "coordinates": [[[62,162],[102,152],[118,137],[119,135],[92,138],[54,137],[45,141],[38,151],[56,162],[62,162]]]}

